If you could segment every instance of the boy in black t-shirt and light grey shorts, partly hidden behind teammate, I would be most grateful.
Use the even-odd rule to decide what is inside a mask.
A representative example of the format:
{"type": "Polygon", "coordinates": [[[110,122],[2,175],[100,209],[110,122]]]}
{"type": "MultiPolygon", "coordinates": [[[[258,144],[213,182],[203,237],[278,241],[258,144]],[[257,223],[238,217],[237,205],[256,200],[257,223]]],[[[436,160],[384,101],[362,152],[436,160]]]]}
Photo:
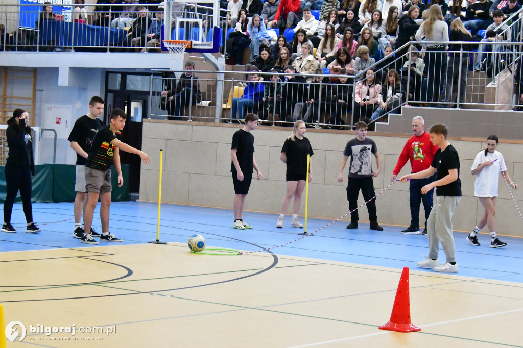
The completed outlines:
{"type": "MultiPolygon", "coordinates": [[[[99,119],[102,112],[104,112],[104,99],[97,96],[91,98],[89,101],[89,113],[76,120],[71,134],[67,138],[71,142],[71,148],[76,152],[76,180],[74,186],[76,197],[73,208],[73,237],[78,239],[84,236],[84,229],[81,225],[82,210],[85,213],[85,205],[87,204],[87,195],[85,194],[85,161],[96,132],[104,125],[99,119]]],[[[91,229],[91,236],[100,237],[100,234],[91,229]]]]}

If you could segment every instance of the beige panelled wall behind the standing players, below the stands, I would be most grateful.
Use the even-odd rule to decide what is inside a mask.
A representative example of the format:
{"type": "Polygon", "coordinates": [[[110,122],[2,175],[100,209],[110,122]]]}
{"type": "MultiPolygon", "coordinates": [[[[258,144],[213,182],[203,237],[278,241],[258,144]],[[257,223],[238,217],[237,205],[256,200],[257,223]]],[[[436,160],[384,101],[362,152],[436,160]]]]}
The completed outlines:
{"type": "MultiPolygon", "coordinates": [[[[140,199],[157,201],[160,166],[160,149],[163,152],[162,202],[232,208],[234,195],[231,180],[231,139],[240,125],[205,124],[193,122],[145,120],[143,150],[152,159],[143,165],[140,181],[140,199]]],[[[285,193],[285,164],[280,150],[290,128],[260,126],[253,131],[255,158],[264,178],[254,180],[245,202],[245,210],[278,213],[285,193]]],[[[348,165],[344,170],[344,182],[336,178],[343,149],[354,132],[310,130],[306,135],[314,149],[311,158],[312,181],[309,187],[309,215],[329,219],[348,213],[346,184],[348,165]]],[[[392,170],[410,135],[392,136],[385,133],[370,134],[376,142],[382,160],[382,169],[374,179],[376,193],[390,183],[392,170]]],[[[454,229],[472,230],[483,208],[474,197],[474,177],[470,174],[475,155],[483,148],[481,140],[463,141],[450,137],[461,159],[463,198],[453,217],[454,229]]],[[[521,143],[521,142],[519,142],[521,143]]],[[[519,155],[520,144],[503,144],[507,171],[516,183],[523,183],[523,159],[519,155]]],[[[373,164],[376,169],[376,163],[373,164]]],[[[407,164],[401,174],[410,172],[407,164]]],[[[520,191],[515,191],[518,205],[523,206],[520,191]]],[[[304,200],[301,213],[304,212],[304,200]]],[[[363,203],[360,197],[359,203],[363,203]]],[[[406,226],[410,223],[408,184],[396,182],[377,200],[378,222],[406,226]]],[[[423,208],[421,209],[423,213],[423,208]]],[[[231,214],[229,212],[225,214],[231,214]]],[[[231,219],[232,219],[231,215],[231,219]]],[[[347,219],[347,218],[345,218],[347,219]]],[[[368,221],[365,207],[360,211],[360,221],[368,221]]],[[[424,216],[420,222],[424,222],[424,216]]],[[[522,221],[510,198],[503,177],[499,179],[497,200],[497,231],[500,234],[523,236],[522,221]]],[[[276,224],[276,216],[275,216],[276,224]]],[[[485,230],[484,230],[485,231],[485,230]]]]}

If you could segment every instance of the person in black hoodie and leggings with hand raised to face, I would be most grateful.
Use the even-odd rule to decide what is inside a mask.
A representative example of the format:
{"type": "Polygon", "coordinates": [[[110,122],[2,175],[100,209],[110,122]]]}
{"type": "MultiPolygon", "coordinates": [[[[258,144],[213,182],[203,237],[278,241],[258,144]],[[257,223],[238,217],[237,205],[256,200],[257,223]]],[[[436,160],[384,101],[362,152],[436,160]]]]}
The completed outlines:
{"type": "Polygon", "coordinates": [[[32,154],[31,127],[26,126],[28,114],[16,109],[13,117],[7,121],[7,147],[9,155],[5,165],[6,197],[4,202],[4,225],[2,232],[15,233],[11,225],[11,213],[18,190],[22,198],[22,207],[26,215],[27,233],[40,232],[41,229],[32,221],[31,178],[35,176],[35,161],[32,154]]]}

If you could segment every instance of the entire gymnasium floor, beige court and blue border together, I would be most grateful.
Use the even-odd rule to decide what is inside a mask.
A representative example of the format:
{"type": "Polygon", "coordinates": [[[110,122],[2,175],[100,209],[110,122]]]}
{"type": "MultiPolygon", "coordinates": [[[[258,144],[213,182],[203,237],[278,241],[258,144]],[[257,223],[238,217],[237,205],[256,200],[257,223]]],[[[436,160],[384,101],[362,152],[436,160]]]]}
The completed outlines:
{"type": "MultiPolygon", "coordinates": [[[[152,245],[157,204],[120,202],[110,225],[124,241],[88,246],[72,238],[72,203],[33,204],[33,212],[41,233],[23,232],[21,204],[13,212],[21,231],[0,233],[0,304],[6,323],[27,329],[8,347],[523,347],[521,238],[493,249],[488,235],[474,247],[455,233],[459,273],[440,274],[416,268],[426,237],[402,227],[347,230],[342,221],[269,252],[213,256],[190,253],[188,237],[203,235],[207,249],[257,251],[300,230],[251,212],[244,219],[254,228],[236,230],[229,210],[163,204],[168,244],[152,245]],[[403,267],[422,331],[379,330],[403,267]],[[31,332],[38,324],[74,324],[76,334],[31,332]],[[105,332],[78,331],[95,326],[105,332]]],[[[309,219],[308,231],[329,222],[309,219]]]]}

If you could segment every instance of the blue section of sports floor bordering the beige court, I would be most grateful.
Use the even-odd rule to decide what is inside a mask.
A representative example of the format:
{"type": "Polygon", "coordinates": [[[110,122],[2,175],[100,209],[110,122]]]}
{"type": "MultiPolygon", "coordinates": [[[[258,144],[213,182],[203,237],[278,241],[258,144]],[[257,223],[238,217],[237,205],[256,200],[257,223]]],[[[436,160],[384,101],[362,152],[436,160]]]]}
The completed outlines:
{"type": "MultiPolygon", "coordinates": [[[[95,211],[94,227],[100,231],[98,208],[95,211]]],[[[18,233],[0,233],[0,251],[23,251],[60,248],[96,248],[116,246],[120,243],[100,243],[89,246],[72,238],[74,229],[72,203],[33,204],[34,220],[42,228],[39,234],[24,233],[24,215],[21,204],[15,204],[12,222],[18,233]]],[[[230,210],[162,204],[160,239],[166,242],[186,243],[189,236],[201,234],[207,245],[240,251],[257,251],[272,248],[293,241],[301,236],[303,229],[291,228],[290,217],[286,216],[284,228],[276,228],[277,215],[245,212],[244,220],[253,229],[232,228],[233,214],[230,210]]],[[[303,223],[303,217],[301,217],[303,223]]],[[[331,221],[311,218],[308,232],[325,226],[331,221]]],[[[124,241],[122,245],[143,244],[156,239],[157,204],[149,202],[114,202],[111,204],[111,233],[124,241]]],[[[402,235],[403,227],[386,226],[384,231],[373,231],[368,224],[359,224],[358,229],[345,228],[346,221],[339,221],[327,228],[271,252],[305,258],[341,261],[372,266],[416,271],[416,261],[427,254],[427,238],[422,235],[402,235]]],[[[515,228],[521,228],[515,226],[515,228]]],[[[480,247],[474,247],[465,240],[466,233],[455,232],[456,259],[459,265],[457,275],[523,283],[523,238],[505,237],[504,248],[490,248],[490,236],[481,234],[480,247]]],[[[440,262],[444,252],[440,251],[440,262]]],[[[240,256],[241,257],[241,256],[240,256]]]]}

